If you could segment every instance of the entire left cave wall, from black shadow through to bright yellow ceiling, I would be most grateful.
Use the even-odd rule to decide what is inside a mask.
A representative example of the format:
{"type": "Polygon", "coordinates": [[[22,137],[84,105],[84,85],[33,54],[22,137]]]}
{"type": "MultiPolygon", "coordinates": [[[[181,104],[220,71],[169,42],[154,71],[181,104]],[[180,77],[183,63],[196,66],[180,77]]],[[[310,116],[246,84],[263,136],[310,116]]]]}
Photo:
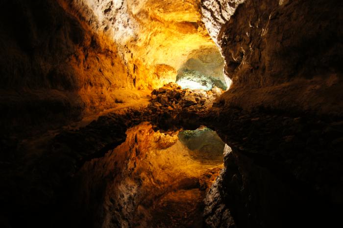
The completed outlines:
{"type": "Polygon", "coordinates": [[[199,6],[199,0],[2,1],[2,128],[60,127],[114,107],[123,89],[174,82],[194,50],[216,47],[199,6]]]}

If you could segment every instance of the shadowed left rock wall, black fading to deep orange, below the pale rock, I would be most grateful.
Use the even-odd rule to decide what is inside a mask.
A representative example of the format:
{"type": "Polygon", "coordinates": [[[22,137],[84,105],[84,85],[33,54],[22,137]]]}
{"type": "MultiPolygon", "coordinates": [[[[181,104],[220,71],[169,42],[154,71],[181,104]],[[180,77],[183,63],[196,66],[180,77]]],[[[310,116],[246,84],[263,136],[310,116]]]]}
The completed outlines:
{"type": "Polygon", "coordinates": [[[34,133],[113,107],[133,88],[116,45],[54,0],[1,1],[1,128],[34,133]]]}

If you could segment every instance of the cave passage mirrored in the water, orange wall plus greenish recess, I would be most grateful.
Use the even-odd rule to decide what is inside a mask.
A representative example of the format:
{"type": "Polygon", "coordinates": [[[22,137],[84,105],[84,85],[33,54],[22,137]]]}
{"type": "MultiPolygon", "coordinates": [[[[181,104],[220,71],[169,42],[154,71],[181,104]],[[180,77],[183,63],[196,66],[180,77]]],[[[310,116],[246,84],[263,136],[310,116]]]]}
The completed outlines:
{"type": "Polygon", "coordinates": [[[204,126],[161,133],[147,122],[126,133],[122,145],[84,165],[79,178],[93,184],[80,189],[97,189],[111,205],[106,217],[119,227],[203,227],[204,199],[223,167],[217,133],[204,126]],[[97,178],[107,187],[95,186],[97,178]]]}

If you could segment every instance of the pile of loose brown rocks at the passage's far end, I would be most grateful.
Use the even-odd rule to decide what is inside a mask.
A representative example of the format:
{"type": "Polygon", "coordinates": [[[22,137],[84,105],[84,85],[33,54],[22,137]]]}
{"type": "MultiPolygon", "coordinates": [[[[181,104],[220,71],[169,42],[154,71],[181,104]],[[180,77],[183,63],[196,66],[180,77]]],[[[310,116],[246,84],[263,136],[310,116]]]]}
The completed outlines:
{"type": "Polygon", "coordinates": [[[212,106],[221,93],[218,87],[209,91],[181,89],[178,84],[170,82],[151,92],[148,108],[153,113],[178,113],[185,109],[191,112],[203,112],[212,106]]]}

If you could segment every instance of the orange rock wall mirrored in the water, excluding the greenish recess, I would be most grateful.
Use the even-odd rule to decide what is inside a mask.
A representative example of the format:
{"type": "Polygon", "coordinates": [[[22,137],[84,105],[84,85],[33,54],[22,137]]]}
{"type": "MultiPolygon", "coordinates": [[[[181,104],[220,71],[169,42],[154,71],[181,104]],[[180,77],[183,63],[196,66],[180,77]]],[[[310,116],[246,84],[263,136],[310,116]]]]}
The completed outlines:
{"type": "Polygon", "coordinates": [[[193,159],[177,133],[142,123],[127,130],[122,145],[86,163],[75,177],[72,210],[81,217],[74,226],[202,227],[202,199],[222,160],[193,159]]]}

